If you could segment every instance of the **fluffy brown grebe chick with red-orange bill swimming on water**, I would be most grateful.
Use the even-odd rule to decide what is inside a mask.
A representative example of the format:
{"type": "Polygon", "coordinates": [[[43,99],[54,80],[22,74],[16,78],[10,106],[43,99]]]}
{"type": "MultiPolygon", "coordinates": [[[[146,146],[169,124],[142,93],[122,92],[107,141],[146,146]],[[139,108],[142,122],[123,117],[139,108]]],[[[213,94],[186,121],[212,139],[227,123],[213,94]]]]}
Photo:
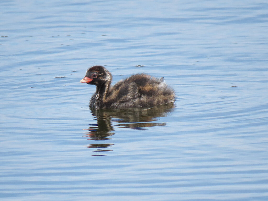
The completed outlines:
{"type": "Polygon", "coordinates": [[[111,86],[112,75],[103,66],[92,66],[80,80],[96,85],[90,108],[152,107],[174,102],[174,90],[163,80],[144,73],[130,76],[111,86]]]}

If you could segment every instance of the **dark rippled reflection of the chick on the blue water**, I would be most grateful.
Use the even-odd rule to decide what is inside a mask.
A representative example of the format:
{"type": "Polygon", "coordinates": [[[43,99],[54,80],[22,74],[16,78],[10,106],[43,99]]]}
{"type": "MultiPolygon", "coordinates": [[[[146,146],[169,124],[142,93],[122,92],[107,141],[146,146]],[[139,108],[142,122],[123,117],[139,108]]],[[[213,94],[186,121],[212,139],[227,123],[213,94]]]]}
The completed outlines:
{"type": "MultiPolygon", "coordinates": [[[[88,133],[85,133],[88,140],[110,140],[113,139],[115,133],[112,122],[116,122],[115,126],[118,128],[131,128],[131,129],[150,129],[152,126],[163,126],[166,123],[152,123],[156,121],[157,117],[166,117],[168,113],[174,109],[174,103],[166,105],[155,106],[151,108],[129,108],[129,109],[91,109],[92,114],[95,116],[97,122],[90,124],[87,129],[88,133]]],[[[114,144],[100,143],[89,144],[88,148],[95,148],[95,152],[107,152],[112,151],[106,148],[113,146],[114,144]]],[[[107,155],[98,154],[94,156],[107,155]]]]}

